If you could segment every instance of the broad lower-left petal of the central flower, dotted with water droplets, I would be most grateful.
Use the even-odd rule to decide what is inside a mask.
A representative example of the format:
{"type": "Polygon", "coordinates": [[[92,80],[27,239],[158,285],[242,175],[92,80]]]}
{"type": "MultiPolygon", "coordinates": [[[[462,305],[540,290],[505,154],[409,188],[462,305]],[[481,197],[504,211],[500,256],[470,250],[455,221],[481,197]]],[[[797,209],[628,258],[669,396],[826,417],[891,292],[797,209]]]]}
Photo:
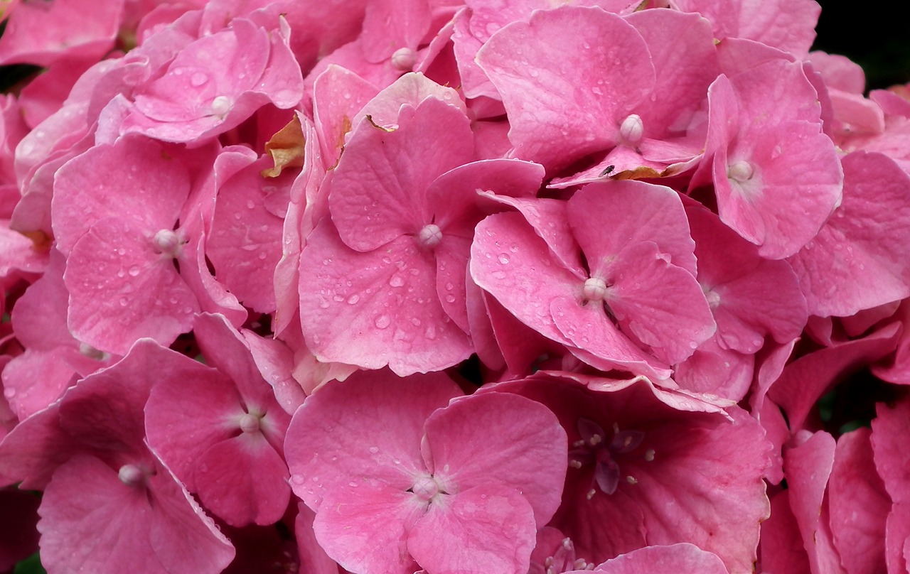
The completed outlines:
{"type": "Polygon", "coordinates": [[[312,269],[299,285],[308,347],[321,361],[389,365],[401,376],[469,357],[467,334],[441,306],[433,259],[408,236],[359,253],[321,223],[300,255],[301,269],[312,269]]]}

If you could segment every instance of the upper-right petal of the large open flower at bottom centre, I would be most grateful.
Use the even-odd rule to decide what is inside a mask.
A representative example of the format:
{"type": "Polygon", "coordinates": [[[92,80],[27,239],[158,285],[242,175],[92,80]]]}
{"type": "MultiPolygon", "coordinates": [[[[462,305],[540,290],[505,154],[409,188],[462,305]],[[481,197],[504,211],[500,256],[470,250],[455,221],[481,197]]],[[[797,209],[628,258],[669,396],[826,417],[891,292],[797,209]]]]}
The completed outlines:
{"type": "Polygon", "coordinates": [[[441,488],[511,487],[531,503],[539,526],[552,518],[568,452],[565,431],[549,408],[518,395],[474,395],[433,413],[426,428],[430,470],[441,488]]]}

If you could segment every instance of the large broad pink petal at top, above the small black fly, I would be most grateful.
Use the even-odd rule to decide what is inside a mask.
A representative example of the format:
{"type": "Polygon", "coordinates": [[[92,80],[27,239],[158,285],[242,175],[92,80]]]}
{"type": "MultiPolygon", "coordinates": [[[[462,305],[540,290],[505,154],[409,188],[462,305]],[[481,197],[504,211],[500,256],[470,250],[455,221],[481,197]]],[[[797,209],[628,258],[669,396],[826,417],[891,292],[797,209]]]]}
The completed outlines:
{"type": "Polygon", "coordinates": [[[654,84],[642,35],[600,8],[535,12],[492,35],[477,62],[502,96],[515,156],[548,172],[612,147],[654,84]],[[622,77],[622,90],[604,81],[605,71],[622,77]]]}

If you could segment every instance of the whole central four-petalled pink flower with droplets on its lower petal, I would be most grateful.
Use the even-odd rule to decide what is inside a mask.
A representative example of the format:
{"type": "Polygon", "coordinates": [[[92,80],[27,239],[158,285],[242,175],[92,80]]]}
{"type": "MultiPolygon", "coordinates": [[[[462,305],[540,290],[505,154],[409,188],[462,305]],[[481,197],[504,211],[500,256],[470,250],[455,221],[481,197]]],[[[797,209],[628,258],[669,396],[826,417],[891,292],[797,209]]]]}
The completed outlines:
{"type": "Polygon", "coordinates": [[[470,356],[465,281],[478,189],[530,195],[541,167],[471,162],[470,121],[436,97],[397,126],[362,122],[329,185],[329,218],[300,256],[300,318],[322,361],[399,375],[470,356]],[[431,150],[431,151],[428,151],[431,150]]]}

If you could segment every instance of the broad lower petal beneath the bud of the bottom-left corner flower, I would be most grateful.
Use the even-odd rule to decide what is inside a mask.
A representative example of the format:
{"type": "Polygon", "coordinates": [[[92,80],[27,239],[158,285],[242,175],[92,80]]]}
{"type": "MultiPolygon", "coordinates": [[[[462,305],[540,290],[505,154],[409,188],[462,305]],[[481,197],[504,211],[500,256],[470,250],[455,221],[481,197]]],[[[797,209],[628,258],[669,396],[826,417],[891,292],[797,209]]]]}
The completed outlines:
{"type": "Polygon", "coordinates": [[[167,472],[128,487],[116,469],[78,456],[57,469],[39,514],[41,559],[51,571],[193,571],[216,574],[234,549],[167,472]]]}

